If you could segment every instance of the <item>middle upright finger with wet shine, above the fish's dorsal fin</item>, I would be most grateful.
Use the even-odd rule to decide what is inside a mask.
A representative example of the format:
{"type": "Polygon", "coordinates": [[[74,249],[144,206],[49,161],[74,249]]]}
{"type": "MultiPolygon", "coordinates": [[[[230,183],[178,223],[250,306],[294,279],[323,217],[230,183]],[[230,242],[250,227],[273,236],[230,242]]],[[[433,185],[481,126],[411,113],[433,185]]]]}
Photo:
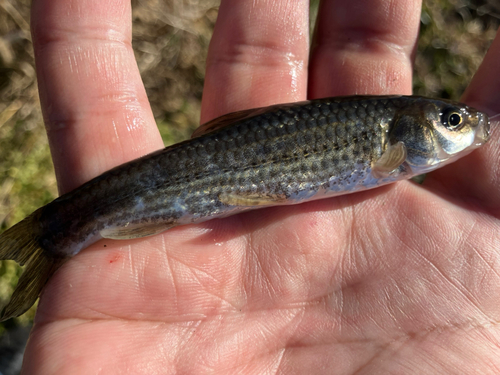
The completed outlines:
{"type": "Polygon", "coordinates": [[[307,0],[223,0],[207,57],[202,123],[306,97],[307,0]]]}

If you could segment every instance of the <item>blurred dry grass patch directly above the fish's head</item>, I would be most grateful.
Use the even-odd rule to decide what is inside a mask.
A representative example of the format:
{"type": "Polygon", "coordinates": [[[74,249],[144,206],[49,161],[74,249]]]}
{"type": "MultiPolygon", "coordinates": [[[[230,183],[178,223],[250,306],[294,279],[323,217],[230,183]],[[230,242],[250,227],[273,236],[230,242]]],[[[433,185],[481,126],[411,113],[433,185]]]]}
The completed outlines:
{"type": "Polygon", "coordinates": [[[499,23],[498,1],[424,1],[414,93],[459,99],[499,23]]]}

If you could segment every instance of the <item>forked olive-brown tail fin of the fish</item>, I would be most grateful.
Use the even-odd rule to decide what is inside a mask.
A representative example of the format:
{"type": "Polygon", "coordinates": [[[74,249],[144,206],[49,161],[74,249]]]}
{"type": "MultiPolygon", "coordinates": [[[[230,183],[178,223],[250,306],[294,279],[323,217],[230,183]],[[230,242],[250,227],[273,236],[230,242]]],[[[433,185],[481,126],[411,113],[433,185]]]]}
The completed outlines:
{"type": "Polygon", "coordinates": [[[25,313],[36,301],[50,276],[66,261],[54,258],[40,247],[34,212],[0,235],[0,259],[11,259],[21,266],[26,265],[12,297],[0,314],[0,322],[25,313]]]}

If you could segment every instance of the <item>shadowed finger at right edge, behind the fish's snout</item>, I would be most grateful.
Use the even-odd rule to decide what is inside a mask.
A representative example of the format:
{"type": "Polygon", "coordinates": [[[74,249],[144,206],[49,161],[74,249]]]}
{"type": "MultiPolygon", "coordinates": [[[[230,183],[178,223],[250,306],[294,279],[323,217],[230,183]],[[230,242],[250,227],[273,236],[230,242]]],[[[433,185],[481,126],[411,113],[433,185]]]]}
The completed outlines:
{"type": "MultiPolygon", "coordinates": [[[[465,91],[462,101],[490,116],[500,113],[500,35],[497,34],[483,63],[465,91]]],[[[498,120],[491,122],[488,143],[467,157],[432,173],[426,180],[430,187],[479,203],[500,216],[500,148],[498,120]]]]}

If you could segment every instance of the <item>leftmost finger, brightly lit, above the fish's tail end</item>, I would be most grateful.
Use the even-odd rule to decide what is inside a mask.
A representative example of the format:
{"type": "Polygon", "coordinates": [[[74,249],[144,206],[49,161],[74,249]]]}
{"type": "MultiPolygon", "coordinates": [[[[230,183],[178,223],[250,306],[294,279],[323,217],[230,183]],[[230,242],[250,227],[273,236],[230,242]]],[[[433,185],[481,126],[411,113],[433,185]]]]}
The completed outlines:
{"type": "Polygon", "coordinates": [[[162,147],[131,48],[129,0],[38,0],[32,31],[61,193],[162,147]]]}

